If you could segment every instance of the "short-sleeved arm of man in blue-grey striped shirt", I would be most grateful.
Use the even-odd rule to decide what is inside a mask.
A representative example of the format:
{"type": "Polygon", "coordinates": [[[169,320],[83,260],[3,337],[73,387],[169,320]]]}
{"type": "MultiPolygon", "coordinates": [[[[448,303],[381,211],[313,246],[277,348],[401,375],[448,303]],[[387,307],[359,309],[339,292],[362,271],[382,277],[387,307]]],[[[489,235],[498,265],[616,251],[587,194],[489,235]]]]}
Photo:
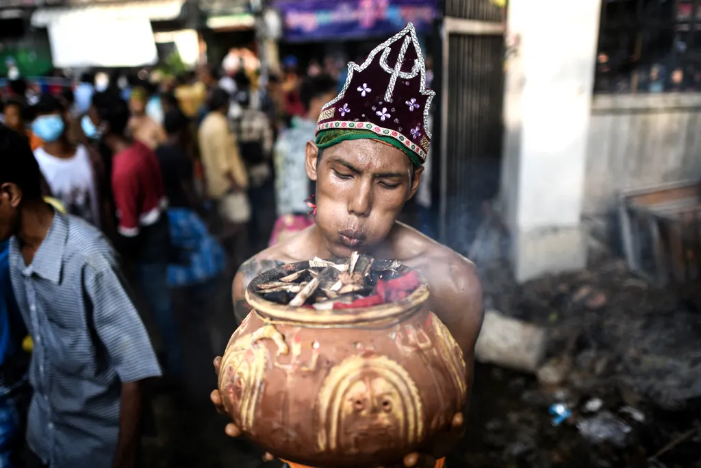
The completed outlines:
{"type": "Polygon", "coordinates": [[[83,281],[93,304],[95,332],[122,382],[119,439],[113,466],[132,467],[140,436],[140,382],[159,377],[161,369],[146,328],[114,262],[102,255],[91,256],[83,281]]]}

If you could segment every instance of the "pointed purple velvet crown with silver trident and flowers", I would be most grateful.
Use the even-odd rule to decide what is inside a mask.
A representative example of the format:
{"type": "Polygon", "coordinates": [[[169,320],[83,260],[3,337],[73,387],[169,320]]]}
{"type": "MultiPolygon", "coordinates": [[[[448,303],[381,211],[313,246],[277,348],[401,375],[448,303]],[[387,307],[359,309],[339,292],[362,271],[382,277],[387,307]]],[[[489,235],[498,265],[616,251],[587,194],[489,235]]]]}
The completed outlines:
{"type": "Polygon", "coordinates": [[[416,29],[409,23],[374,48],[361,65],[348,64],[346,84],[323,107],[316,132],[373,131],[423,162],[431,140],[428,109],[434,95],[426,89],[426,64],[416,29]]]}

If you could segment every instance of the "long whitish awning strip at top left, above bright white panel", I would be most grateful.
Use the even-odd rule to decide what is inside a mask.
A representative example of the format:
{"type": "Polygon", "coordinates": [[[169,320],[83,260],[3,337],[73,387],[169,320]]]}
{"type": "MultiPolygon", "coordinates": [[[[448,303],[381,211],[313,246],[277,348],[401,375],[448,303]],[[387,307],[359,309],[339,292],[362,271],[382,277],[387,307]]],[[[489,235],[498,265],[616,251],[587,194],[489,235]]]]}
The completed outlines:
{"type": "Polygon", "coordinates": [[[102,20],[175,20],[185,0],[144,0],[123,4],[91,4],[59,8],[39,8],[32,13],[33,27],[49,27],[59,22],[102,20]]]}

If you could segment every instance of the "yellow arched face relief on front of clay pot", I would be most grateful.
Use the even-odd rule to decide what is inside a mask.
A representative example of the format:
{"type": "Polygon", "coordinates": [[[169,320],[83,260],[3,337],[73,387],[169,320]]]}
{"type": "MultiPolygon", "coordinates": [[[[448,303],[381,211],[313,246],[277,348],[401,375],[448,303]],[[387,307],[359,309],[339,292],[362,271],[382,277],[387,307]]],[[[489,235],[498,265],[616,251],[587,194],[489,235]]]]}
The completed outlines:
{"type": "Polygon", "coordinates": [[[423,434],[416,383],[385,356],[351,356],[334,367],[319,393],[319,449],[339,455],[379,451],[423,434]]]}

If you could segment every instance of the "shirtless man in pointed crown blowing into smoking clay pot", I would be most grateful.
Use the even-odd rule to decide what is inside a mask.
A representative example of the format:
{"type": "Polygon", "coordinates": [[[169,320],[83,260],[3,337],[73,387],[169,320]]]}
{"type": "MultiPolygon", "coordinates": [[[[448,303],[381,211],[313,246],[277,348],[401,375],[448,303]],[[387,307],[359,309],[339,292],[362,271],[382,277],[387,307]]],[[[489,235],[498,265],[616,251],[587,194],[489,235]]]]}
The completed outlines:
{"type": "MultiPolygon", "coordinates": [[[[423,111],[433,92],[423,85],[423,57],[413,27],[409,25],[381,44],[358,68],[349,74],[339,98],[325,106],[316,141],[306,144],[306,172],[316,183],[316,224],[263,250],[240,267],[233,281],[236,318],[241,321],[250,312],[244,295],[248,283],[273,267],[314,257],[348,257],[354,250],[374,258],[397,259],[418,269],[428,280],[431,310],[463,350],[471,388],[475,342],[483,315],[482,286],[475,265],[397,222],[404,203],[416,194],[421,182],[421,163],[430,138],[426,131],[428,112],[423,111]],[[402,41],[409,46],[397,60],[397,55],[402,55],[402,41]],[[380,63],[380,53],[386,48],[390,48],[383,62],[387,67],[380,63]],[[390,75],[392,64],[397,62],[403,62],[394,65],[401,67],[400,73],[390,75]],[[415,62],[418,72],[414,74],[411,67],[415,62]],[[402,133],[402,128],[408,131],[402,133]]],[[[217,372],[219,362],[220,358],[215,359],[217,372]]],[[[217,390],[212,392],[212,401],[221,408],[217,390]]],[[[457,439],[463,415],[456,415],[453,422],[457,439]]],[[[229,424],[226,433],[238,436],[240,430],[229,424]]],[[[456,439],[438,450],[441,456],[456,439]]],[[[404,465],[441,467],[443,459],[435,462],[433,455],[438,454],[409,454],[404,465]]]]}

